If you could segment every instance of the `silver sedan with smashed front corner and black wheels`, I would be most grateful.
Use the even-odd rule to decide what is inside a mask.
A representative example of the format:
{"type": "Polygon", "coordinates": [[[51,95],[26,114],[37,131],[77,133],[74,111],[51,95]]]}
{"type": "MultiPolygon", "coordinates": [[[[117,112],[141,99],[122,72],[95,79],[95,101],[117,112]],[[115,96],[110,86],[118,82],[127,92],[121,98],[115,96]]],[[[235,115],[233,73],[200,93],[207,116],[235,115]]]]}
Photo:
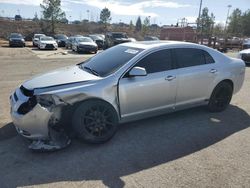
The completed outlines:
{"type": "Polygon", "coordinates": [[[75,66],[24,82],[10,97],[31,149],[102,143],[120,123],[207,105],[219,112],[243,84],[244,62],[184,42],[124,43],[75,66]]]}

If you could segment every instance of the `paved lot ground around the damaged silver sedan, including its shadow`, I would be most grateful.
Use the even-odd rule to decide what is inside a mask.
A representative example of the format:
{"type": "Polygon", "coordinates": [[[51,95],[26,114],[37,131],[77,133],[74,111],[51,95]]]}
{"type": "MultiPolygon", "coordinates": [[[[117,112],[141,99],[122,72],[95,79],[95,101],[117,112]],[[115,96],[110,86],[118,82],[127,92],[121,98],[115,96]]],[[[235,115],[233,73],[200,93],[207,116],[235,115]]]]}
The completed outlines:
{"type": "Polygon", "coordinates": [[[36,74],[92,56],[62,51],[0,47],[0,187],[249,187],[250,67],[222,113],[199,107],[121,125],[102,145],[29,151],[11,123],[9,95],[36,74]]]}

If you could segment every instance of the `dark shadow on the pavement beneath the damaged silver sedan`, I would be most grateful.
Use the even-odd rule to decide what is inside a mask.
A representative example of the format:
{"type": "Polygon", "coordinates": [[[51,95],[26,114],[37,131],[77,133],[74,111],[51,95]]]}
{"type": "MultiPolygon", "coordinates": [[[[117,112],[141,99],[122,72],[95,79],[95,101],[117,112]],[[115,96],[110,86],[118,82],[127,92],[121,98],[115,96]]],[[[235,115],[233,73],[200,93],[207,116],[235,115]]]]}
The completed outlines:
{"type": "Polygon", "coordinates": [[[74,140],[71,147],[54,153],[32,153],[20,137],[2,139],[0,182],[17,187],[101,180],[119,188],[124,186],[122,176],[199,152],[249,126],[248,113],[230,105],[221,113],[199,107],[123,124],[105,144],[74,140]]]}

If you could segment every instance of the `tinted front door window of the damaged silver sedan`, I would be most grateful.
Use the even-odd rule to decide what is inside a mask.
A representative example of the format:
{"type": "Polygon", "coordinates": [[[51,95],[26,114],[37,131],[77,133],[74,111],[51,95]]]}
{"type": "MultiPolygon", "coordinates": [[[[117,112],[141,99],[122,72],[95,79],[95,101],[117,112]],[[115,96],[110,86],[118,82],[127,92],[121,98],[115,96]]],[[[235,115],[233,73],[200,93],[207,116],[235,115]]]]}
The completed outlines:
{"type": "Polygon", "coordinates": [[[135,66],[145,68],[147,74],[171,70],[171,51],[160,50],[157,52],[153,52],[140,60],[135,66]]]}

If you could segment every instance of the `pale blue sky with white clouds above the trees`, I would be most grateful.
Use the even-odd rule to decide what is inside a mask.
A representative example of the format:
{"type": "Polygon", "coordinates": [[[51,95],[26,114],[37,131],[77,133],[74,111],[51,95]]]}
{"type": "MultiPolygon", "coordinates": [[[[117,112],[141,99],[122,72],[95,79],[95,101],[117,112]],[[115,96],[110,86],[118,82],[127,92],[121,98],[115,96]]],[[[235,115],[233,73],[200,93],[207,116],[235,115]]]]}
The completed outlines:
{"type": "MultiPolygon", "coordinates": [[[[62,9],[70,21],[90,19],[99,20],[101,9],[107,7],[111,11],[112,22],[135,23],[140,15],[142,19],[150,16],[151,23],[159,25],[175,24],[177,19],[187,18],[194,22],[198,16],[200,0],[61,0],[62,9]]],[[[0,15],[14,17],[20,12],[22,17],[33,18],[37,12],[41,15],[42,0],[0,0],[0,15]]],[[[239,8],[250,9],[250,0],[203,0],[202,7],[208,7],[215,15],[216,22],[224,23],[228,5],[231,11],[239,8]]]]}

